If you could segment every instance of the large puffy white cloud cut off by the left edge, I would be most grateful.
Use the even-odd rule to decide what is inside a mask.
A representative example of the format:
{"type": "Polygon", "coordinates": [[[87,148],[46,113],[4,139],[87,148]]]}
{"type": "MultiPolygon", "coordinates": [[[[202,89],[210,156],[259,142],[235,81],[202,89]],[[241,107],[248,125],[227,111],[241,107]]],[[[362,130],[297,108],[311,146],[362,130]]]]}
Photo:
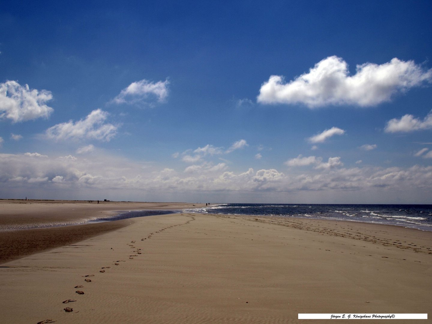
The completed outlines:
{"type": "Polygon", "coordinates": [[[54,111],[45,105],[53,98],[47,90],[30,89],[16,81],[0,83],[0,119],[8,118],[13,123],[37,118],[48,118],[54,111]]]}

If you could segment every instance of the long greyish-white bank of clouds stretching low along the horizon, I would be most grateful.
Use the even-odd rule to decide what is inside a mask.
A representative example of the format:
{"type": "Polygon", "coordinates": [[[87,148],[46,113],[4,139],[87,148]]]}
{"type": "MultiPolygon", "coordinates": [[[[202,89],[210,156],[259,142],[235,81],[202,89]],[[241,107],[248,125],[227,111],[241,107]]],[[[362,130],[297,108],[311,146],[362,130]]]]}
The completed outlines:
{"type": "Polygon", "coordinates": [[[3,197],[12,192],[27,195],[30,192],[32,196],[36,193],[55,193],[59,195],[58,199],[75,198],[77,195],[81,199],[94,199],[97,198],[95,193],[98,193],[96,196],[115,193],[116,199],[122,197],[128,200],[153,197],[155,193],[162,195],[158,196],[162,197],[160,199],[168,199],[178,193],[186,195],[184,199],[193,199],[197,194],[230,199],[256,194],[254,197],[269,201],[272,197],[286,199],[287,194],[294,194],[289,197],[304,197],[302,201],[342,195],[349,201],[367,196],[375,199],[374,202],[382,203],[384,196],[394,199],[392,201],[404,197],[404,201],[408,202],[418,199],[420,195],[422,201],[427,201],[432,190],[432,166],[341,168],[339,157],[315,163],[315,168],[307,172],[298,173],[294,169],[289,174],[272,168],[232,172],[227,171],[223,163],[198,165],[187,172],[163,167],[158,169],[156,165],[144,171],[142,163],[102,155],[88,159],[41,159],[24,154],[0,153],[0,165],[0,195],[3,197]],[[57,190],[59,186],[62,191],[57,190]],[[277,196],[277,193],[281,195],[277,196]],[[238,194],[245,196],[236,196],[238,194]],[[409,199],[406,199],[407,194],[409,199]]]}

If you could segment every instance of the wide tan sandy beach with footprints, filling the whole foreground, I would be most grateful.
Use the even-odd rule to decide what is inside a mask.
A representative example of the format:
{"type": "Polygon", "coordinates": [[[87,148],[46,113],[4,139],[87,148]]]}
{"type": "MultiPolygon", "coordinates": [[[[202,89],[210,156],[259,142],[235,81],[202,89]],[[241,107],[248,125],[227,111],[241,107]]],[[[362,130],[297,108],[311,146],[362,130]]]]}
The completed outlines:
{"type": "MultiPolygon", "coordinates": [[[[189,206],[1,201],[0,225],[189,206]]],[[[397,226],[183,213],[9,230],[0,243],[5,323],[326,323],[297,318],[432,314],[432,233],[397,226]]]]}

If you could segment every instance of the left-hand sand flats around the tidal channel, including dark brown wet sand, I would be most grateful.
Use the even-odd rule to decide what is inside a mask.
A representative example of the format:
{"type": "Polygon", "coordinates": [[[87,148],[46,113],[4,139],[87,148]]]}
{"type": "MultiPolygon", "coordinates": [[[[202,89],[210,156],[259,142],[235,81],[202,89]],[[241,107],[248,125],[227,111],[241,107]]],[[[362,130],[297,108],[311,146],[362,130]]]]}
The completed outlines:
{"type": "Polygon", "coordinates": [[[70,245],[133,222],[131,219],[79,223],[81,221],[115,216],[125,210],[179,210],[194,205],[205,206],[197,203],[101,201],[97,204],[97,201],[76,200],[0,200],[0,264],[70,245]],[[70,224],[53,226],[64,222],[70,224]]]}

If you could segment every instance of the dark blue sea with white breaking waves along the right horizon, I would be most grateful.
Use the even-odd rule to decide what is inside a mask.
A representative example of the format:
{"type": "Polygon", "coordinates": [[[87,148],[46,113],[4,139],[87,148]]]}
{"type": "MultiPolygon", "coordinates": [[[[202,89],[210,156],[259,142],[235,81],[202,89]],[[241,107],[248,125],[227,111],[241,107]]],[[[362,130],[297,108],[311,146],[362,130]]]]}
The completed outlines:
{"type": "Polygon", "coordinates": [[[348,220],[432,231],[432,205],[221,203],[184,210],[194,213],[348,220]]]}

